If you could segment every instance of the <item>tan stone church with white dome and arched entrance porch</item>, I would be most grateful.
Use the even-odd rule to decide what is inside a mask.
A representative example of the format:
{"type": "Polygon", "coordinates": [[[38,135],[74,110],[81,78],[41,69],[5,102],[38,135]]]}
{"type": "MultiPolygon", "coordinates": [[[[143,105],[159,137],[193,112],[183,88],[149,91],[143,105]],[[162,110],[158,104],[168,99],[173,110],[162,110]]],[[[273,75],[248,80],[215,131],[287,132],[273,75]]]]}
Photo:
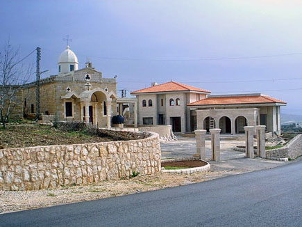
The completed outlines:
{"type": "MultiPolygon", "coordinates": [[[[84,121],[99,127],[111,127],[111,117],[121,114],[123,104],[132,104],[136,99],[117,96],[117,78],[103,78],[101,72],[88,62],[78,69],[78,58],[69,49],[60,54],[58,75],[40,81],[40,113],[42,118],[56,116],[58,120],[84,121]]],[[[23,113],[35,114],[35,82],[22,89],[23,113]]],[[[16,116],[16,114],[14,114],[16,116]]],[[[134,123],[137,124],[136,114],[134,123]]]]}

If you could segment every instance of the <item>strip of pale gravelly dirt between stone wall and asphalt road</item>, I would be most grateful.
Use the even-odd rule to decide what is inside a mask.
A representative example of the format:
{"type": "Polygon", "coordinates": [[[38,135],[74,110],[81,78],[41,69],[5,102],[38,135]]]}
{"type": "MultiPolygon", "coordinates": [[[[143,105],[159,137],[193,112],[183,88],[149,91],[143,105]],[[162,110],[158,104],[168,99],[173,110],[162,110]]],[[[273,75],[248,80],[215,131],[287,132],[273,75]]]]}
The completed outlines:
{"type": "Polygon", "coordinates": [[[90,201],[99,198],[152,191],[194,182],[203,182],[240,171],[208,171],[200,173],[157,173],[138,175],[128,180],[110,180],[86,186],[70,186],[62,189],[40,191],[0,191],[0,213],[31,210],[52,205],[90,201]]]}

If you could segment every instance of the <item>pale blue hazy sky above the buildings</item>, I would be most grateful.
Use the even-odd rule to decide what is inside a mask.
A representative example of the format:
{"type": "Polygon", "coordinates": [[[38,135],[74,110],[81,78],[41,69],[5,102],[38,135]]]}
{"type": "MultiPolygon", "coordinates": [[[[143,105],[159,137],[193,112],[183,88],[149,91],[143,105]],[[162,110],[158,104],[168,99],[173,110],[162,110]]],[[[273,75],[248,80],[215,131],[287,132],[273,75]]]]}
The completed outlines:
{"type": "Polygon", "coordinates": [[[41,47],[42,78],[58,74],[68,34],[79,68],[89,58],[119,90],[173,80],[264,93],[302,115],[300,0],[0,1],[1,48],[9,39],[22,58],[41,47]]]}

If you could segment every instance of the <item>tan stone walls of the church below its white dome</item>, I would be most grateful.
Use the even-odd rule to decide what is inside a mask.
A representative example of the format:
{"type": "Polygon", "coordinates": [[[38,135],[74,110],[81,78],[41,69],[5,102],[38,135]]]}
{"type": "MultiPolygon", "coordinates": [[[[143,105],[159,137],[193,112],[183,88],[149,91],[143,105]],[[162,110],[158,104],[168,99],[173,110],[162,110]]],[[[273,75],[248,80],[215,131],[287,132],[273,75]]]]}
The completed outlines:
{"type": "MultiPolygon", "coordinates": [[[[105,127],[108,123],[108,116],[117,115],[116,94],[117,81],[115,78],[103,78],[101,72],[97,72],[93,68],[83,68],[65,75],[41,80],[40,113],[56,115],[58,120],[92,121],[94,125],[105,127]],[[85,80],[86,75],[90,76],[89,81],[85,80]],[[90,85],[88,89],[86,88],[87,83],[90,85]],[[71,116],[67,116],[66,102],[72,102],[71,116]],[[107,113],[110,110],[111,113],[104,113],[105,104],[107,113]],[[92,111],[89,109],[90,107],[92,107],[92,111]],[[85,111],[89,113],[84,113],[85,111]]],[[[35,83],[24,86],[21,99],[24,100],[22,102],[24,114],[35,113],[35,83]]],[[[20,117],[23,117],[23,113],[20,117]]]]}

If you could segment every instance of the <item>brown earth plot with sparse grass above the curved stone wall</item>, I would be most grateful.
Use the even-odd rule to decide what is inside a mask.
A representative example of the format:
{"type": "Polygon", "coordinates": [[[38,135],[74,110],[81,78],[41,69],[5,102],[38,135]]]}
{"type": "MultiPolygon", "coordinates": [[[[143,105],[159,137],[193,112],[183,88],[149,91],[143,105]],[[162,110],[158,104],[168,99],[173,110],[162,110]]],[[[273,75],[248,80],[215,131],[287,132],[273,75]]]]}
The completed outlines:
{"type": "Polygon", "coordinates": [[[8,125],[6,130],[0,130],[0,149],[104,141],[112,141],[112,138],[91,136],[81,131],[64,132],[49,125],[8,125]]]}

